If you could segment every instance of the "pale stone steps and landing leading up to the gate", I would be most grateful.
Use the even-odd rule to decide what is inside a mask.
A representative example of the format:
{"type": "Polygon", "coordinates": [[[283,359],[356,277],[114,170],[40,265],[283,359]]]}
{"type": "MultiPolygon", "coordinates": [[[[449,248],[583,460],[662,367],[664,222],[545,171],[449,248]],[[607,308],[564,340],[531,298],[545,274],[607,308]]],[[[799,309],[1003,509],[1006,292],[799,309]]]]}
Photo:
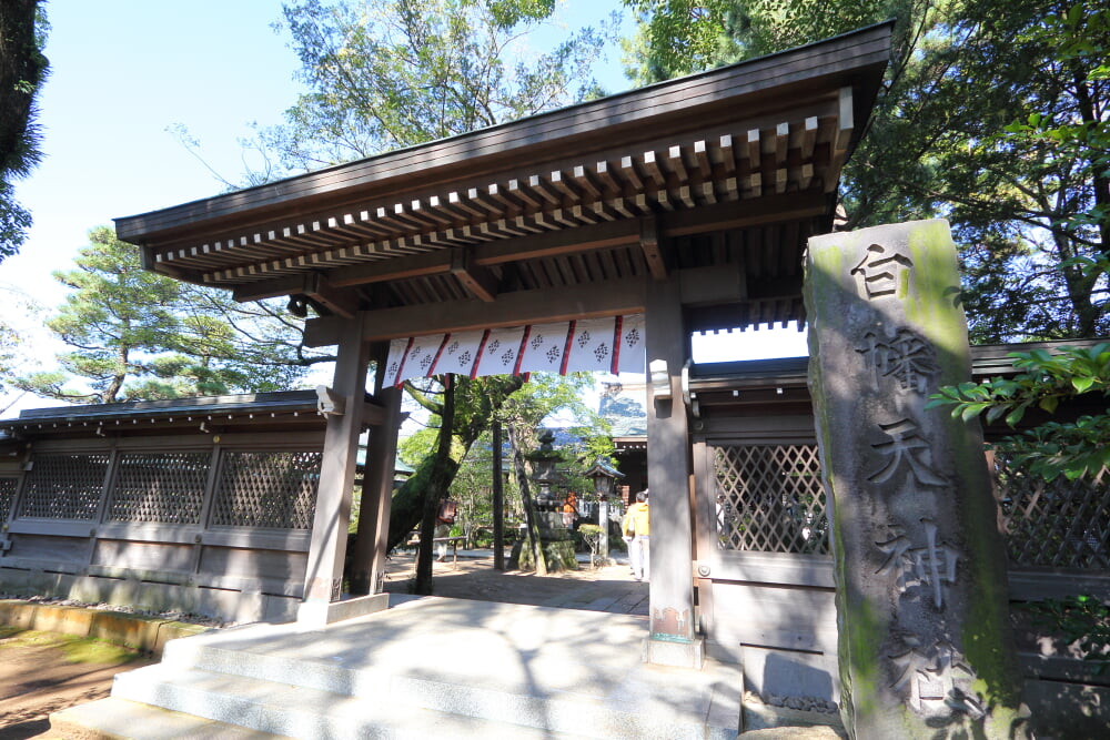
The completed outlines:
{"type": "MultiPolygon", "coordinates": [[[[739,666],[647,666],[640,662],[644,622],[633,617],[458,601],[431,599],[424,608],[406,605],[323,630],[258,625],[175,640],[161,663],[117,676],[105,701],[130,703],[97,702],[56,717],[73,727],[84,711],[87,728],[103,728],[100,716],[113,707],[130,714],[147,707],[172,712],[176,722],[185,721],[181,713],[240,732],[313,739],[423,738],[430,731],[482,738],[736,737],[739,666]]],[[[159,722],[98,731],[181,737],[139,733],[145,724],[159,722]]]]}

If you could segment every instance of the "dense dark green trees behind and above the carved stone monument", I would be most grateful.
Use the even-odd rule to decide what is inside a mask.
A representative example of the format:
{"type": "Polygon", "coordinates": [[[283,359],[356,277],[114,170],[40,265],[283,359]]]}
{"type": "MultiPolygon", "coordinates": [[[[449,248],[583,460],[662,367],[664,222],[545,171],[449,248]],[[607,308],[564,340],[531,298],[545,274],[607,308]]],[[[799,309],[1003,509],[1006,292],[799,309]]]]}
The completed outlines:
{"type": "MultiPolygon", "coordinates": [[[[1098,7],[1078,4],[1083,13],[1098,7]]],[[[1030,115],[1050,126],[1090,125],[1104,115],[1106,83],[1090,81],[1080,61],[1062,59],[1059,39],[1046,31],[1070,8],[937,2],[916,16],[920,33],[899,50],[846,169],[849,227],[927,216],[951,222],[977,343],[1110,330],[1104,280],[1072,263],[1107,249],[1106,229],[1081,223],[1108,187],[1097,153],[1019,135],[1011,125],[1030,115]]],[[[1106,48],[1104,33],[1090,39],[1106,48]]]]}

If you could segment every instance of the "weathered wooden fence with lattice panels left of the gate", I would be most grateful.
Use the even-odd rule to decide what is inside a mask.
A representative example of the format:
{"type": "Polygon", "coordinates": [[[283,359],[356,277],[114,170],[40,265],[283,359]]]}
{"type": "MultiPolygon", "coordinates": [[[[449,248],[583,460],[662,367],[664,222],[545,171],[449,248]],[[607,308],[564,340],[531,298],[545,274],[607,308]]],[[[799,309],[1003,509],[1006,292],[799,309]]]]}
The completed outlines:
{"type": "Polygon", "coordinates": [[[0,586],[104,600],[125,582],[157,608],[290,618],[323,435],[213,438],[37,445],[21,475],[0,476],[0,586]]]}

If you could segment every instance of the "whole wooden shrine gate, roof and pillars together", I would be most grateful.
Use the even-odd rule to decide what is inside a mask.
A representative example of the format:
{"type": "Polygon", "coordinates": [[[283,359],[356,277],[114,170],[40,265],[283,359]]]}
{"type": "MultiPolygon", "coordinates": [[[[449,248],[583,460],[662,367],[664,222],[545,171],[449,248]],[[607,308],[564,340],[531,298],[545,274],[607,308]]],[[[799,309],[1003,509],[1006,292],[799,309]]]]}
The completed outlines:
{"type": "Polygon", "coordinates": [[[806,242],[831,230],[840,169],[870,115],[891,29],[117,220],[148,268],[240,301],[287,296],[317,314],[306,343],[337,347],[305,621],[342,611],[372,359],[383,424],[371,439],[349,574],[370,597],[383,596],[400,426],[391,344],[643,315],[654,513],[648,657],[700,663],[680,387],[690,333],[805,320],[806,242]]]}

